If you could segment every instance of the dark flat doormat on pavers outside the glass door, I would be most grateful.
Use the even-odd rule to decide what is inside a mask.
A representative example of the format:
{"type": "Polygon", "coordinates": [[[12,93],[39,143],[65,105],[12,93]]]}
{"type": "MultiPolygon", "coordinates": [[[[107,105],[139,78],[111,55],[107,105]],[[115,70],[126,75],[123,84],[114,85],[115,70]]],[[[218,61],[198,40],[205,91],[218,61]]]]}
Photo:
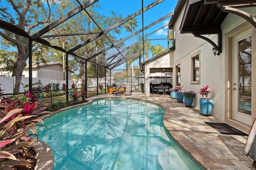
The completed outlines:
{"type": "Polygon", "coordinates": [[[212,128],[218,130],[218,132],[220,132],[221,134],[234,134],[234,135],[248,136],[248,134],[226,123],[212,123],[212,122],[205,122],[205,123],[211,126],[212,128]]]}

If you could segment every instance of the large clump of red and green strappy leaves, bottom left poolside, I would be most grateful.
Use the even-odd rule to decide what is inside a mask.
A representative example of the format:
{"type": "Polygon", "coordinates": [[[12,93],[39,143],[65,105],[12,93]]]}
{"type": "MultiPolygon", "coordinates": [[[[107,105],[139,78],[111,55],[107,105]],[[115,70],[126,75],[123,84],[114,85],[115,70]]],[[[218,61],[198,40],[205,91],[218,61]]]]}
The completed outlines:
{"type": "Polygon", "coordinates": [[[13,166],[32,166],[28,160],[32,156],[29,152],[31,144],[35,143],[35,135],[40,115],[50,113],[44,111],[46,107],[38,109],[35,95],[26,94],[30,100],[11,101],[10,97],[0,99],[0,169],[12,169],[13,166]],[[32,134],[29,133],[29,130],[32,134]]]}

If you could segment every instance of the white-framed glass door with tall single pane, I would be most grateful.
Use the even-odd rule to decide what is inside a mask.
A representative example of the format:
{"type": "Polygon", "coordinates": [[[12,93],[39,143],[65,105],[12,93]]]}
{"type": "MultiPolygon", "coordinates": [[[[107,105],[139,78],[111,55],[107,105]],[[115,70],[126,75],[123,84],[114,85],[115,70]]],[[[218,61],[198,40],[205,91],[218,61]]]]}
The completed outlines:
{"type": "Polygon", "coordinates": [[[233,118],[252,125],[252,29],[233,39],[233,118]]]}

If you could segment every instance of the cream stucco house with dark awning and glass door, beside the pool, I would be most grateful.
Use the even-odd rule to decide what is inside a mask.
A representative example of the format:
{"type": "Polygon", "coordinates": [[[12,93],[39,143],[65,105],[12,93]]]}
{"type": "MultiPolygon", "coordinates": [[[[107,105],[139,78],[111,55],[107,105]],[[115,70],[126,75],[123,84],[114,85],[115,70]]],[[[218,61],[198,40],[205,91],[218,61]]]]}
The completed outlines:
{"type": "MultiPolygon", "coordinates": [[[[256,1],[245,2],[179,0],[169,23],[174,47],[142,63],[142,70],[150,77],[152,69],[172,69],[174,87],[185,91],[211,85],[212,116],[249,132],[256,118],[256,1]]],[[[194,97],[197,109],[200,98],[194,97]]]]}

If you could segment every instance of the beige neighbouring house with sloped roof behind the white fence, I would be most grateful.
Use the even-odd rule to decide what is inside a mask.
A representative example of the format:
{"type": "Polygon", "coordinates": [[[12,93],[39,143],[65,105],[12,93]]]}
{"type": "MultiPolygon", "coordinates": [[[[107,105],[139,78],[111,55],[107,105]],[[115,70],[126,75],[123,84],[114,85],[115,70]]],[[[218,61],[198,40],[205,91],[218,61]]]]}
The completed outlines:
{"type": "MultiPolygon", "coordinates": [[[[29,71],[28,71],[28,63],[27,66],[24,68],[24,71],[22,73],[23,77],[29,77],[29,71]]],[[[66,69],[66,68],[65,68],[66,69]]],[[[1,70],[1,66],[0,66],[1,70]]],[[[1,75],[5,76],[11,76],[12,73],[7,72],[0,72],[1,75]]],[[[71,73],[74,73],[74,71],[68,69],[68,79],[71,80],[71,73]]],[[[61,63],[47,63],[46,65],[40,64],[39,67],[36,64],[32,64],[32,77],[33,78],[48,78],[48,79],[54,79],[54,80],[64,80],[63,79],[63,65],[61,63]]],[[[66,73],[65,73],[65,79],[66,79],[66,73]]]]}

